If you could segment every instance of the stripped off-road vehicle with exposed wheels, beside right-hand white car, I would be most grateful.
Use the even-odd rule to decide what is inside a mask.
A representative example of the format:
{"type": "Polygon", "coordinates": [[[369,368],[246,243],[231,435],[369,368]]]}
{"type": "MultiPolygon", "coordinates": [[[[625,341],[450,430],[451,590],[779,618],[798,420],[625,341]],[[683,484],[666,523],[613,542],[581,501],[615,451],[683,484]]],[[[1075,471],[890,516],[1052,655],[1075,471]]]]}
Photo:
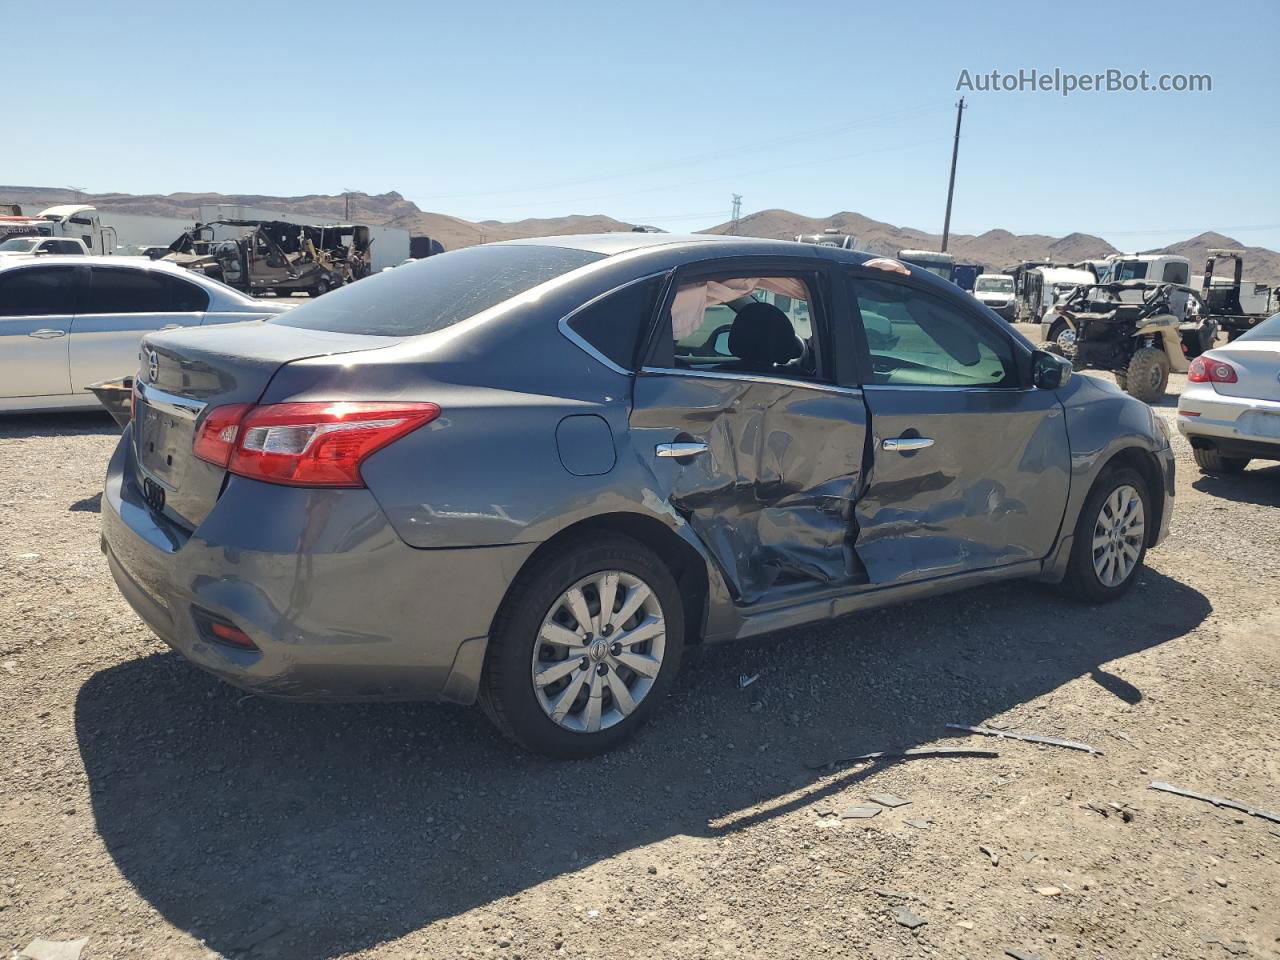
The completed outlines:
{"type": "MultiPolygon", "coordinates": [[[[1042,328],[1060,324],[1070,338],[1059,335],[1041,348],[1071,360],[1076,370],[1110,370],[1116,385],[1147,403],[1165,396],[1169,374],[1185,374],[1189,361],[1213,346],[1217,321],[1194,315],[1179,320],[1175,298],[1196,294],[1174,283],[1093,283],[1078,287],[1046,316],[1042,328]],[[1126,294],[1142,300],[1130,302],[1126,294]]],[[[1196,298],[1198,301],[1198,297],[1196,298]]]]}

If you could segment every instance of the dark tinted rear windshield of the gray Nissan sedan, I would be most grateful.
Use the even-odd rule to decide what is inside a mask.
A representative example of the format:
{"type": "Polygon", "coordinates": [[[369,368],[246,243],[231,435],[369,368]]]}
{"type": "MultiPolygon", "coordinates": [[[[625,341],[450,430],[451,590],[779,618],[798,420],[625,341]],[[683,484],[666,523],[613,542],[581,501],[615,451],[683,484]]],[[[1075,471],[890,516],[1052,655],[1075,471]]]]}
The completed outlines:
{"type": "Polygon", "coordinates": [[[468,247],[375,274],[273,316],[269,323],[372,337],[416,337],[452,326],[603,256],[534,244],[468,247]]]}

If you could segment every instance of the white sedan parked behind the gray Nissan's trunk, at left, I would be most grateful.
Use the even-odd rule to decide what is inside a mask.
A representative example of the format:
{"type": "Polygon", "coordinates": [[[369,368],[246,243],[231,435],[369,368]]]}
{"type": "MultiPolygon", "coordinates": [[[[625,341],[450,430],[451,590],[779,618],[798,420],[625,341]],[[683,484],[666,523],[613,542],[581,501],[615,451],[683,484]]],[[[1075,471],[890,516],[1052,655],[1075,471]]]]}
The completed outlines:
{"type": "Polygon", "coordinates": [[[0,413],[97,407],[86,390],[138,369],[145,334],[262,320],[253,300],[173,264],[133,257],[0,260],[0,413]]]}

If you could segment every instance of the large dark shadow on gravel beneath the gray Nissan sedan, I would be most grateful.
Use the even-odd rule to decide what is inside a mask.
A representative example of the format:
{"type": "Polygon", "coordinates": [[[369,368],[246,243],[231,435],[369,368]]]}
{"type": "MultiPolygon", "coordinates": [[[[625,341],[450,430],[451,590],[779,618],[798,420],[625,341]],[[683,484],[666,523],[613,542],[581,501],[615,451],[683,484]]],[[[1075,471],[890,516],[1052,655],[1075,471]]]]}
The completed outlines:
{"type": "Polygon", "coordinates": [[[628,851],[620,869],[643,883],[660,865],[646,845],[741,829],[891,765],[806,760],[932,742],[1091,675],[1133,703],[1102,664],[1210,609],[1147,570],[1106,608],[1006,584],[699,649],[636,740],[577,763],[521,753],[477,710],[265,700],[174,654],[92,676],[76,732],[106,850],[169,923],[220,954],[320,959],[628,851]],[[759,680],[740,689],[744,673],[759,680]]]}

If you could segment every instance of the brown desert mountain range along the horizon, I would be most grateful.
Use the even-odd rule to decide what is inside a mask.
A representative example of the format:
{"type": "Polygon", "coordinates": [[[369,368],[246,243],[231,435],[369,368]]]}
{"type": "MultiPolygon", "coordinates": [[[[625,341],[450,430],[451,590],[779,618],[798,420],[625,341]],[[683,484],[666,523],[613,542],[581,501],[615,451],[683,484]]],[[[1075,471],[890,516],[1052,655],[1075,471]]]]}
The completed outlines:
{"type": "MultiPolygon", "coordinates": [[[[517,237],[611,233],[630,230],[632,227],[630,223],[604,214],[573,214],[511,223],[500,220],[472,221],[421,210],[416,204],[394,191],[372,195],[312,193],[298,197],[274,197],[256,193],[74,193],[65,188],[54,187],[0,186],[0,202],[20,204],[23,210],[28,212],[77,200],[92,204],[100,210],[184,219],[195,218],[201,204],[239,204],[279,210],[284,214],[340,221],[347,219],[349,205],[351,220],[403,227],[411,234],[434,237],[444,244],[445,250],[517,237]]],[[[722,223],[701,232],[731,233],[732,227],[732,223],[722,223]]],[[[737,233],[746,237],[791,239],[797,234],[822,233],[828,228],[854,234],[858,238],[858,248],[872,253],[892,255],[906,248],[937,250],[942,243],[940,234],[911,227],[896,227],[854,212],[814,218],[790,210],[760,210],[741,218],[737,233]]],[[[1203,269],[1208,250],[1215,247],[1243,250],[1245,279],[1280,285],[1280,253],[1266,247],[1247,247],[1238,239],[1221,233],[1207,232],[1161,247],[1158,251],[1142,252],[1180,253],[1192,261],[1192,273],[1198,274],[1203,269]]],[[[1038,233],[1018,234],[1000,229],[980,234],[952,234],[948,250],[957,261],[982,264],[987,269],[1010,266],[1021,260],[1071,262],[1120,252],[1107,241],[1088,233],[1050,237],[1038,233]]]]}

